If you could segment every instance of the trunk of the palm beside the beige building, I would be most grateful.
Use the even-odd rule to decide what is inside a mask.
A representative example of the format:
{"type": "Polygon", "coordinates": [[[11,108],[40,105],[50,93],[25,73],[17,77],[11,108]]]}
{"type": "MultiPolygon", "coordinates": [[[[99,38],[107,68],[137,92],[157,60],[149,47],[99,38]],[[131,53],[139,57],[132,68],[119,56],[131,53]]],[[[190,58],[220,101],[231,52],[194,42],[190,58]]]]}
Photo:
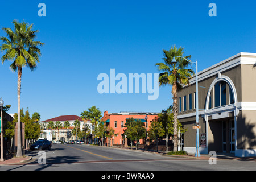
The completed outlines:
{"type": "Polygon", "coordinates": [[[174,100],[174,105],[172,108],[172,111],[174,112],[174,152],[177,151],[177,83],[174,82],[174,85],[172,85],[172,96],[174,100]]]}

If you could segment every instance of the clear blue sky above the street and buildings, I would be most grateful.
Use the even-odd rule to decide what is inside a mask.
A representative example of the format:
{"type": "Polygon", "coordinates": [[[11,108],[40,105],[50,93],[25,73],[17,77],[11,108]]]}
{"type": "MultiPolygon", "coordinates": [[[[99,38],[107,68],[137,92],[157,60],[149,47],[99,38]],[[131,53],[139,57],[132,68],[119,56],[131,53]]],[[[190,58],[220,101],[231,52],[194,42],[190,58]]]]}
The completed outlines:
{"type": "MultiPolygon", "coordinates": [[[[199,71],[239,52],[256,52],[256,1],[1,1],[0,26],[14,19],[34,23],[45,43],[38,68],[22,72],[21,107],[42,121],[80,115],[96,105],[102,113],[161,111],[172,104],[171,86],[157,100],[146,94],[99,94],[100,73],[159,73],[163,49],[176,44],[199,61],[199,71]],[[46,4],[46,17],[38,4],[46,4]],[[209,3],[217,16],[210,17],[209,3]]],[[[0,30],[0,36],[5,36],[0,30]]],[[[2,57],[3,53],[0,52],[2,57]]],[[[0,96],[17,112],[17,73],[0,65],[0,96]]]]}

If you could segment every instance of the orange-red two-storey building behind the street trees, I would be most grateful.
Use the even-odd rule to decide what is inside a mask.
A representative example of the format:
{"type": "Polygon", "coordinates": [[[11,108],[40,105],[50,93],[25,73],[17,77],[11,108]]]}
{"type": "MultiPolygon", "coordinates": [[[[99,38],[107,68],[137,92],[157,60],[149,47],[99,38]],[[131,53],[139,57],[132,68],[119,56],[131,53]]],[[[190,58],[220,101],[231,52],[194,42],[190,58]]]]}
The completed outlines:
{"type": "MultiPolygon", "coordinates": [[[[141,122],[146,123],[145,117],[147,115],[147,130],[149,130],[151,121],[157,117],[158,113],[140,113],[140,112],[120,112],[120,113],[108,113],[108,111],[104,112],[104,116],[102,117],[102,121],[106,122],[106,127],[111,127],[115,130],[115,134],[118,133],[116,137],[114,137],[113,144],[120,145],[122,142],[122,134],[125,127],[121,127],[121,123],[123,122],[123,126],[125,126],[126,119],[133,117],[135,120],[140,119],[141,122]]],[[[144,144],[144,140],[139,140],[140,144],[144,144]]],[[[106,143],[112,145],[112,140],[106,140],[106,143]]]]}

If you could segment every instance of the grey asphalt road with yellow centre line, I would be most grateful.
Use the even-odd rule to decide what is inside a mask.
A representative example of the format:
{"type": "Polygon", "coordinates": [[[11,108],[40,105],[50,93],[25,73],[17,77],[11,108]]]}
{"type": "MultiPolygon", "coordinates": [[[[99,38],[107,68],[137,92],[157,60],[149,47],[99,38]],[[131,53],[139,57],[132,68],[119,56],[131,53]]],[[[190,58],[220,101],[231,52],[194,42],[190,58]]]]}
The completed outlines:
{"type": "Polygon", "coordinates": [[[151,152],[76,144],[53,144],[51,150],[44,150],[40,155],[38,152],[28,151],[27,155],[33,156],[33,160],[29,163],[0,166],[0,170],[112,173],[114,171],[256,170],[255,161],[217,160],[216,165],[210,165],[208,160],[174,158],[151,152]],[[43,160],[44,156],[46,160],[43,160]],[[46,163],[42,164],[44,162],[46,163]]]}

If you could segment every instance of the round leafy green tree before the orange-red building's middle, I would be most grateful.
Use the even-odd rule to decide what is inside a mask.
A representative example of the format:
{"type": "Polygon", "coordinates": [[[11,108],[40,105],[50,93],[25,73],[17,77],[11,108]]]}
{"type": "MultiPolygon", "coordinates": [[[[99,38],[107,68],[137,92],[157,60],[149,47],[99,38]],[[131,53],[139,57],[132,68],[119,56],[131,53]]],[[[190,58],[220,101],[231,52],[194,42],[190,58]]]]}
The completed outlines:
{"type": "MultiPolygon", "coordinates": [[[[135,120],[133,117],[126,120],[125,123],[125,131],[123,135],[126,135],[127,138],[136,141],[136,149],[138,148],[138,141],[145,137],[146,128],[144,124],[138,119],[135,120]]],[[[131,144],[132,147],[132,144],[131,144]]]]}

